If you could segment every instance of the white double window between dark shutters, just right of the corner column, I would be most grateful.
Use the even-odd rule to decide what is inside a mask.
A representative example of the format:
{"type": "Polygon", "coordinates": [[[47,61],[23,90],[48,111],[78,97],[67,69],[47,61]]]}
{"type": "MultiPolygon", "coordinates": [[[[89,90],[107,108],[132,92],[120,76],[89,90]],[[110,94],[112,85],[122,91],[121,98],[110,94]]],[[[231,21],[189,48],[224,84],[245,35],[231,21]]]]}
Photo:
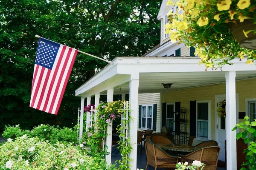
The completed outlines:
{"type": "Polygon", "coordinates": [[[141,107],[141,128],[152,129],[153,126],[153,105],[141,107]]]}

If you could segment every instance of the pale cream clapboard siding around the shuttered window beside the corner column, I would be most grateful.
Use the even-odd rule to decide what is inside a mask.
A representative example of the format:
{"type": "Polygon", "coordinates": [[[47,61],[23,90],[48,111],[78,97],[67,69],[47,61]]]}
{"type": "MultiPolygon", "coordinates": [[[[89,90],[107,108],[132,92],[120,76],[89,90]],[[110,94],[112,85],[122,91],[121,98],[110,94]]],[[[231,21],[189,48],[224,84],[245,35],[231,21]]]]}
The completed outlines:
{"type": "MultiPolygon", "coordinates": [[[[157,104],[157,129],[159,131],[159,118],[160,118],[160,93],[146,93],[146,94],[139,94],[139,105],[148,105],[148,104],[157,104]]],[[[138,112],[139,113],[139,112],[138,112]]],[[[138,114],[139,119],[139,114],[138,114]]],[[[139,127],[139,121],[138,121],[139,127]]],[[[140,130],[138,128],[138,130],[140,130]]]]}

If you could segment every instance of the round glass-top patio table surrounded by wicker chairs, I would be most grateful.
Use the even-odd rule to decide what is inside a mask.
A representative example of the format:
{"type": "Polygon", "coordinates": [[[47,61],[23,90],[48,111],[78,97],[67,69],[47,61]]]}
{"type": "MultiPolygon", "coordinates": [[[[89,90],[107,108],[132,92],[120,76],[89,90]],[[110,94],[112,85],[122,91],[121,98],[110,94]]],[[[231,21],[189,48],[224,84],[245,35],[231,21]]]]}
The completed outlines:
{"type": "Polygon", "coordinates": [[[189,146],[187,144],[157,144],[163,150],[171,150],[177,152],[193,152],[198,149],[195,146],[189,146]]]}

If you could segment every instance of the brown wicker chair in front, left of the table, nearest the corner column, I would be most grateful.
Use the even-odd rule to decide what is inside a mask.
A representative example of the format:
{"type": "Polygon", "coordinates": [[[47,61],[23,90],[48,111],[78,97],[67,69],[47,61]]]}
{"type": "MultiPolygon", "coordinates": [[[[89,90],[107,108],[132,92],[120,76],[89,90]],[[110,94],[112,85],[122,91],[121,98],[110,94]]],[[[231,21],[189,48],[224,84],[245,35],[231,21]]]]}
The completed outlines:
{"type": "Polygon", "coordinates": [[[179,156],[169,155],[153,142],[145,140],[145,147],[147,155],[147,165],[145,170],[147,170],[148,164],[155,167],[156,170],[158,167],[175,167],[179,162],[179,156]]]}

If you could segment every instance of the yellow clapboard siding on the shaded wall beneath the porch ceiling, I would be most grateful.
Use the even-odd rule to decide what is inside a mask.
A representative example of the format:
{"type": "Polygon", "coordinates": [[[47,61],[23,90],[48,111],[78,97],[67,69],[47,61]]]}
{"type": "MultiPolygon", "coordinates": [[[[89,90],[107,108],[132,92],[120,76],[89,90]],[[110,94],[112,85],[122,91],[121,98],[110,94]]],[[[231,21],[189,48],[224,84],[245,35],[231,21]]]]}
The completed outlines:
{"type": "MultiPolygon", "coordinates": [[[[239,112],[245,112],[245,99],[256,98],[256,79],[236,82],[236,93],[239,94],[239,112]]],[[[211,101],[211,140],[215,139],[215,95],[225,94],[225,83],[198,88],[170,91],[162,94],[162,102],[181,102],[181,107],[187,109],[187,132],[189,132],[189,101],[211,101]]],[[[241,120],[239,120],[240,122],[241,120]]],[[[194,144],[201,141],[194,140],[194,144]]]]}

